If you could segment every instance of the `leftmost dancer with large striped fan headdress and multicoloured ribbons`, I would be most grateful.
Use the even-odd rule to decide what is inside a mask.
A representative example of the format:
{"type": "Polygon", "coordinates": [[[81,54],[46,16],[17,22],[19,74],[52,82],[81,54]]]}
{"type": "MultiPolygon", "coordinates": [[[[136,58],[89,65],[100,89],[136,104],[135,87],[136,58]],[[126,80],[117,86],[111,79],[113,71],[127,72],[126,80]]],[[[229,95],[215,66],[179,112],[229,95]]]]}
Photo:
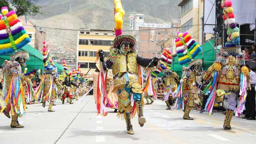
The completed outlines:
{"type": "Polygon", "coordinates": [[[25,115],[26,104],[21,81],[25,80],[26,74],[22,73],[21,65],[25,67],[25,61],[29,60],[29,53],[18,49],[30,42],[29,35],[22,27],[22,23],[17,19],[15,11],[8,12],[7,7],[2,7],[0,15],[0,55],[10,54],[10,61],[5,61],[3,66],[4,74],[4,104],[0,104],[0,111],[4,109],[4,114],[10,118],[12,115],[12,128],[21,128],[18,117],[25,115]]]}

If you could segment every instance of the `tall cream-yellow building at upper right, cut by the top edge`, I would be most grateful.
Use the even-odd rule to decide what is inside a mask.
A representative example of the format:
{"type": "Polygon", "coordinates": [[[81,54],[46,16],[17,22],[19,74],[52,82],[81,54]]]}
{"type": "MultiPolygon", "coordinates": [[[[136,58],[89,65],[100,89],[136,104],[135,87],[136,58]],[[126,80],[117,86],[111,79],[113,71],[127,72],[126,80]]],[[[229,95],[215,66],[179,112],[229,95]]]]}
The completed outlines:
{"type": "MultiPolygon", "coordinates": [[[[202,44],[204,20],[204,0],[182,0],[181,7],[181,31],[191,34],[199,44],[202,44]]],[[[206,34],[204,40],[212,38],[212,34],[206,34]]]]}

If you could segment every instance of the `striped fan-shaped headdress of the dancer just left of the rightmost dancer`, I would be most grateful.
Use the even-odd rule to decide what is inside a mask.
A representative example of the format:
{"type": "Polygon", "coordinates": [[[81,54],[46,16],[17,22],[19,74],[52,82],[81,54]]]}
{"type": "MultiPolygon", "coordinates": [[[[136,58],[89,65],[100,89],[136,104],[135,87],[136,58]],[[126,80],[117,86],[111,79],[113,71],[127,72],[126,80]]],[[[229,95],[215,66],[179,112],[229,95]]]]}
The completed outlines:
{"type": "Polygon", "coordinates": [[[192,36],[185,32],[178,33],[178,38],[175,40],[177,56],[179,57],[179,64],[183,65],[192,61],[193,58],[202,50],[199,44],[192,38],[192,36]]]}

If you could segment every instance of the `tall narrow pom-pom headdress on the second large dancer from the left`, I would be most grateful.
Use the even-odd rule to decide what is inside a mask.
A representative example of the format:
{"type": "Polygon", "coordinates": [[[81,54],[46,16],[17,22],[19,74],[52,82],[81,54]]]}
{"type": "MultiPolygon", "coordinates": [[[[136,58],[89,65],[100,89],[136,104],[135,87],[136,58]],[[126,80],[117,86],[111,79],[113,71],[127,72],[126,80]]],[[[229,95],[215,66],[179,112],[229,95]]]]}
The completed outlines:
{"type": "Polygon", "coordinates": [[[46,44],[46,42],[43,42],[43,44],[44,44],[44,47],[42,49],[43,62],[44,62],[43,73],[46,73],[46,74],[57,73],[57,68],[54,65],[54,62],[52,61],[52,58],[50,57],[50,54],[49,54],[48,45],[46,44]]]}

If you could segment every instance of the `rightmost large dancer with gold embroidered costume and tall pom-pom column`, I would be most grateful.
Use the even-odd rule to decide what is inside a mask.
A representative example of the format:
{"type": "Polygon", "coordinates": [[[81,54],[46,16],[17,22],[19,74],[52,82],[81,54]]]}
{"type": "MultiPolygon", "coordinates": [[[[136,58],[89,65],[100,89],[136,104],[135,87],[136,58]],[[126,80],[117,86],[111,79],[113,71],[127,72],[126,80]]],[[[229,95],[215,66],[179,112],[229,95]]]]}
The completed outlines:
{"type": "Polygon", "coordinates": [[[223,19],[228,28],[228,38],[225,47],[220,49],[216,61],[209,67],[203,77],[205,81],[210,76],[213,77],[205,110],[212,113],[217,89],[225,90],[225,93],[228,95],[229,108],[226,110],[223,128],[224,130],[229,130],[231,129],[230,123],[234,111],[237,116],[241,117],[244,110],[247,88],[250,89],[250,75],[248,68],[245,66],[245,52],[241,52],[241,46],[238,46],[239,28],[236,27],[232,1],[222,0],[221,7],[224,13],[223,19]],[[236,98],[238,94],[241,97],[237,105],[236,98]]]}

